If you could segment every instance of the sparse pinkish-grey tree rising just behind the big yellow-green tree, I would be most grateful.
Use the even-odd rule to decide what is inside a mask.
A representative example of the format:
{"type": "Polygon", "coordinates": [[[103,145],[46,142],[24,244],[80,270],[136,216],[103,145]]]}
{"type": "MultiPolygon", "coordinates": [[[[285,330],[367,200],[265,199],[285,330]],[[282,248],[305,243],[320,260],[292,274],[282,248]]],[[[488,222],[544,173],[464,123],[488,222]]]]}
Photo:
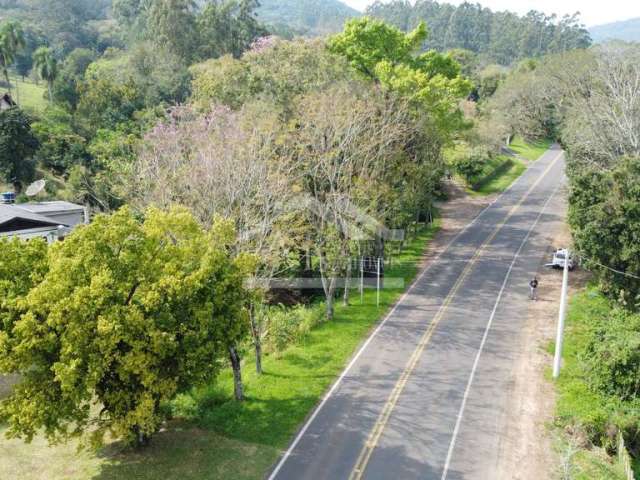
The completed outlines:
{"type": "MultiPolygon", "coordinates": [[[[239,112],[217,107],[206,117],[190,108],[174,109],[144,138],[126,182],[129,201],[140,208],[179,202],[204,225],[219,215],[233,219],[233,251],[254,255],[259,261],[252,275],[271,278],[291,266],[289,252],[297,244],[289,205],[292,175],[276,160],[282,129],[269,104],[245,106],[239,112]]],[[[258,371],[259,288],[247,298],[258,371]]],[[[233,356],[239,362],[237,351],[233,356]]],[[[240,364],[233,366],[239,377],[240,364]]]]}

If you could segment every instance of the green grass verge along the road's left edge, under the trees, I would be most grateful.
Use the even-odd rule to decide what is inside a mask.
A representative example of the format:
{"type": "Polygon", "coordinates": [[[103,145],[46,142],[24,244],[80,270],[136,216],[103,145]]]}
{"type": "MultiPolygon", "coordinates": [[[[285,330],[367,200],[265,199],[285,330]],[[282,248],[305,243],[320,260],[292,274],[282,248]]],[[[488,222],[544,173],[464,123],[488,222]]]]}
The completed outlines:
{"type": "MultiPolygon", "coordinates": [[[[404,278],[408,285],[437,229],[438,224],[425,229],[410,242],[387,276],[404,278]]],[[[260,377],[247,355],[246,402],[232,400],[227,372],[216,385],[180,397],[174,407],[186,418],[139,452],[114,444],[98,454],[76,454],[75,444],[48,447],[41,438],[31,445],[0,438],[0,479],[261,479],[402,291],[383,290],[380,308],[374,291],[365,293],[362,305],[354,298],[352,306],[337,306],[333,322],[279,356],[267,356],[260,377]]]]}

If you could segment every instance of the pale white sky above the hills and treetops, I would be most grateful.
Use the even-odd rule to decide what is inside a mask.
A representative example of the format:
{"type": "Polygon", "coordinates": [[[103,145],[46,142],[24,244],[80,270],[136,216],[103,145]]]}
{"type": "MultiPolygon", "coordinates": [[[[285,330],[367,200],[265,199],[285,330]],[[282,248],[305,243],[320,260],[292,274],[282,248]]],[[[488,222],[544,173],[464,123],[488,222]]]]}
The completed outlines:
{"type": "MultiPolygon", "coordinates": [[[[342,0],[344,3],[364,10],[372,0],[342,0]]],[[[475,3],[477,0],[470,0],[475,3]]],[[[462,0],[447,0],[447,3],[459,4],[462,0]]],[[[640,17],[638,0],[479,0],[478,3],[492,10],[511,10],[525,14],[529,10],[540,10],[547,14],[564,15],[580,12],[587,26],[640,17]]]]}

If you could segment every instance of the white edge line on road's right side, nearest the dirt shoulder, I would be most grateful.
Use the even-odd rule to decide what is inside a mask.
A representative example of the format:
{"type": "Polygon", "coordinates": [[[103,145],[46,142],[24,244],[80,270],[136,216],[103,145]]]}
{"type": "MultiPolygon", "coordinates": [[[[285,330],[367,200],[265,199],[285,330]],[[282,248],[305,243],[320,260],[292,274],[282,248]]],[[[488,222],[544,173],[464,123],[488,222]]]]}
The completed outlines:
{"type": "Polygon", "coordinates": [[[545,202],[544,207],[542,208],[542,210],[540,211],[540,214],[536,218],[536,221],[533,223],[533,225],[531,226],[531,228],[527,232],[527,236],[524,237],[524,240],[520,244],[520,248],[516,252],[516,255],[513,257],[513,261],[511,262],[511,265],[509,266],[509,270],[507,271],[507,274],[504,277],[504,282],[502,282],[502,288],[500,289],[500,293],[498,294],[498,298],[496,299],[496,303],[495,303],[495,305],[493,307],[493,311],[491,312],[491,316],[489,317],[489,322],[487,323],[487,327],[485,328],[484,335],[482,336],[482,342],[480,343],[480,348],[478,349],[478,353],[476,354],[475,361],[473,362],[473,368],[471,369],[471,375],[469,376],[469,381],[467,382],[467,388],[465,389],[464,396],[462,398],[462,405],[460,406],[460,411],[458,412],[458,418],[456,419],[456,426],[453,429],[453,436],[451,437],[451,443],[449,444],[449,450],[447,452],[447,460],[446,460],[445,465],[444,465],[444,470],[442,471],[441,480],[446,480],[447,474],[449,473],[449,468],[451,467],[451,459],[453,458],[453,451],[455,450],[456,440],[457,440],[457,437],[458,437],[458,433],[460,432],[460,425],[462,424],[462,418],[464,417],[464,410],[465,410],[465,408],[467,406],[467,400],[469,398],[469,394],[471,393],[471,385],[473,384],[473,380],[475,378],[476,371],[478,369],[478,365],[480,364],[480,357],[482,356],[482,352],[484,350],[484,346],[487,343],[487,338],[489,337],[489,332],[491,330],[491,326],[493,325],[493,320],[495,319],[496,313],[498,311],[498,307],[500,306],[500,302],[502,301],[502,296],[504,295],[504,291],[507,288],[507,283],[509,282],[509,278],[511,277],[511,272],[513,271],[513,268],[515,267],[516,262],[518,261],[518,258],[520,257],[520,254],[522,253],[522,250],[524,250],[524,247],[526,246],[527,242],[529,241],[529,238],[531,237],[531,234],[533,233],[535,228],[538,226],[538,223],[540,223],[540,219],[542,218],[542,216],[547,211],[547,207],[549,206],[549,203],[551,203],[551,200],[553,200],[555,198],[556,194],[558,193],[558,191],[560,190],[561,187],[562,187],[562,185],[558,186],[553,191],[551,196],[547,199],[547,201],[545,202]]]}

